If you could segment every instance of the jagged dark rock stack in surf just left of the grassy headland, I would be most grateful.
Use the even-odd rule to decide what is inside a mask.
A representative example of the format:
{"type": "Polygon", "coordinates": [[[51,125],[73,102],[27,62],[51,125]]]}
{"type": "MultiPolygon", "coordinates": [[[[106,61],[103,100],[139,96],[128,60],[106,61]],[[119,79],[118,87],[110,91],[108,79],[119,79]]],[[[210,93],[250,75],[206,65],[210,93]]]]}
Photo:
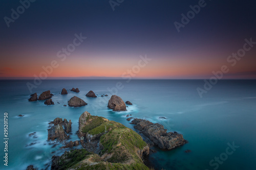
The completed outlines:
{"type": "Polygon", "coordinates": [[[53,124],[53,127],[48,129],[48,140],[57,139],[61,141],[69,138],[68,133],[71,132],[71,120],[68,122],[66,118],[62,120],[62,118],[57,117],[50,124],[53,124]]]}

